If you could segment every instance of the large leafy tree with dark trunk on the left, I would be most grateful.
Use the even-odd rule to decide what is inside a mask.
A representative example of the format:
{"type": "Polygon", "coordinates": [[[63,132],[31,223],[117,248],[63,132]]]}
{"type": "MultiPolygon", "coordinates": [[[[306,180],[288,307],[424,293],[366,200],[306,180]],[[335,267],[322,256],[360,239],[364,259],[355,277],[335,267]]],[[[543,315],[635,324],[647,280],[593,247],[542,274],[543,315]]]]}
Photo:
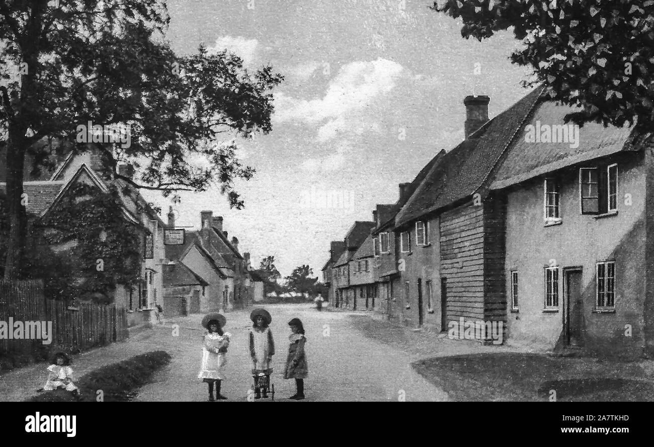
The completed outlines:
{"type": "Polygon", "coordinates": [[[94,143],[108,175],[165,195],[217,183],[230,206],[243,206],[233,181],[254,170],[230,141],[270,132],[271,89],[282,77],[271,67],[251,73],[237,56],[202,46],[177,55],[165,41],[168,23],[159,0],[0,1],[5,278],[23,273],[26,160],[39,171],[52,152],[88,151],[80,139],[88,122],[129,135],[131,144],[94,143]],[[120,162],[136,175],[114,174],[120,162]]]}

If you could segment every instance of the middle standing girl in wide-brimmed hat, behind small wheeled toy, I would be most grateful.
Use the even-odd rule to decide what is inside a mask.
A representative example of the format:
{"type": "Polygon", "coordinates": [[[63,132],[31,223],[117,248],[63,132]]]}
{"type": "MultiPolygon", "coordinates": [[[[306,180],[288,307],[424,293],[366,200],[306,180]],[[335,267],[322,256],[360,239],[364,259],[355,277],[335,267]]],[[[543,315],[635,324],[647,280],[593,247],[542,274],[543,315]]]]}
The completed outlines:
{"type": "Polygon", "coordinates": [[[268,327],[272,321],[270,313],[264,309],[254,309],[250,313],[252,329],[250,329],[250,357],[252,357],[252,378],[254,379],[254,399],[268,397],[270,389],[270,374],[273,368],[270,363],[275,355],[273,332],[268,327]]]}

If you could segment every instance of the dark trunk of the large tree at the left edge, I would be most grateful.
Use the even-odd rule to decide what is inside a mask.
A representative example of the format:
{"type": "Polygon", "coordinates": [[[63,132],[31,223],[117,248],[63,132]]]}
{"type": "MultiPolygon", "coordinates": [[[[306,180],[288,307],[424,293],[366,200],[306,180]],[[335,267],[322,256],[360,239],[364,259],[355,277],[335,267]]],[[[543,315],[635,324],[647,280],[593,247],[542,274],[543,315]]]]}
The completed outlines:
{"type": "MultiPolygon", "coordinates": [[[[27,236],[26,209],[23,200],[23,170],[25,165],[25,130],[10,126],[7,140],[7,206],[9,207],[9,241],[5,259],[5,279],[18,279],[22,273],[27,236]],[[12,128],[13,127],[13,128],[12,128]]],[[[29,198],[27,198],[29,200],[29,198]]]]}

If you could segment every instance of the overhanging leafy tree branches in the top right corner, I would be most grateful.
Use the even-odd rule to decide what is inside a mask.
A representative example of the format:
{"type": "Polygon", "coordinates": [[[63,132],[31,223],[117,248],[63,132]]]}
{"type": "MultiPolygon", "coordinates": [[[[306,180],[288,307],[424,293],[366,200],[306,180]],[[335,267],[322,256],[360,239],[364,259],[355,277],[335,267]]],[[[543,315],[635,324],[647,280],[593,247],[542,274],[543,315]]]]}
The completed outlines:
{"type": "Polygon", "coordinates": [[[486,39],[511,28],[523,46],[511,62],[532,67],[533,85],[578,106],[583,125],[654,122],[653,0],[440,0],[434,10],[463,21],[461,35],[486,39]]]}

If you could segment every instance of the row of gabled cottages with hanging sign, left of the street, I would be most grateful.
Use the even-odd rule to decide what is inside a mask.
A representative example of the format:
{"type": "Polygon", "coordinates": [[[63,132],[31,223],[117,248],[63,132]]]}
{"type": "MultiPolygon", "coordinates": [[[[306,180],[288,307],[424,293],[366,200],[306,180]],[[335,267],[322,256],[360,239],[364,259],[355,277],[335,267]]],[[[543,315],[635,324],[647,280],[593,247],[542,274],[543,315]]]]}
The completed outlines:
{"type": "MultiPolygon", "coordinates": [[[[0,160],[4,160],[1,152],[0,160]]],[[[158,306],[166,316],[186,315],[226,312],[263,299],[263,281],[250,268],[250,253],[241,254],[237,238],[228,238],[222,217],[202,211],[199,230],[190,231],[175,225],[175,213],[170,207],[167,222],[163,222],[138,190],[107,171],[99,154],[89,147],[86,152],[53,155],[55,168],[50,171],[35,175],[26,168],[27,213],[32,222],[56,213],[58,204],[65,203],[80,183],[103,191],[111,185],[119,187],[123,217],[141,240],[141,283],[129,288],[118,285],[101,294],[107,302],[127,309],[129,326],[151,322],[158,306]]],[[[118,173],[131,177],[133,170],[123,164],[118,166],[118,173]]],[[[4,166],[0,166],[0,193],[5,190],[4,176],[4,166]]]]}

